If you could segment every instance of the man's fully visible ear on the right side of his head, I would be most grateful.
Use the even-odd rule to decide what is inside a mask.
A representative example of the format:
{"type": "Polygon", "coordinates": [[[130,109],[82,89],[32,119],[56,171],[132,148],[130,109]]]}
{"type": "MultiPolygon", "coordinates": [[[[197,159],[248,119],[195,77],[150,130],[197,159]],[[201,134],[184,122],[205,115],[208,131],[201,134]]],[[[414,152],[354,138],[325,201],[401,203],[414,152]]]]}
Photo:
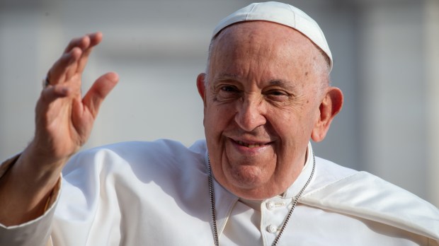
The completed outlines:
{"type": "Polygon", "coordinates": [[[312,129],[311,139],[322,141],[331,126],[333,117],[340,112],[343,107],[343,93],[339,88],[330,87],[326,90],[326,95],[319,106],[319,119],[312,129]]]}

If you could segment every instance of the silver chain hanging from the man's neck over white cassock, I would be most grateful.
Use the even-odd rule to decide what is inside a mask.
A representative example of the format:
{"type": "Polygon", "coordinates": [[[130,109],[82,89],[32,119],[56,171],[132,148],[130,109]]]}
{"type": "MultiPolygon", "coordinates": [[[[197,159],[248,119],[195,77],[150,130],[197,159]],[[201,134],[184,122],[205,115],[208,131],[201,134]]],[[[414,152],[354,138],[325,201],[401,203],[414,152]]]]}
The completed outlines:
{"type": "MultiPolygon", "coordinates": [[[[209,157],[209,155],[207,155],[207,162],[209,164],[207,166],[207,172],[208,172],[208,175],[209,175],[210,213],[212,214],[213,241],[215,242],[215,246],[220,246],[220,242],[218,240],[217,216],[216,216],[216,213],[215,213],[215,193],[214,193],[214,188],[213,188],[212,167],[210,167],[210,157],[209,157]]],[[[291,209],[290,209],[290,211],[288,211],[288,214],[285,217],[285,221],[283,221],[283,225],[280,228],[279,233],[276,236],[276,238],[273,241],[273,244],[271,246],[278,245],[278,242],[280,240],[280,236],[283,234],[283,231],[287,227],[288,221],[290,221],[290,218],[291,218],[291,215],[292,215],[292,211],[294,211],[294,209],[295,209],[295,207],[297,205],[297,201],[299,201],[300,196],[302,196],[302,193],[304,192],[304,190],[309,185],[309,182],[311,182],[312,176],[314,175],[314,170],[315,169],[316,169],[316,157],[314,156],[314,153],[312,153],[312,171],[311,171],[311,175],[309,175],[307,183],[302,187],[300,192],[297,194],[295,200],[293,201],[291,209]]]]}

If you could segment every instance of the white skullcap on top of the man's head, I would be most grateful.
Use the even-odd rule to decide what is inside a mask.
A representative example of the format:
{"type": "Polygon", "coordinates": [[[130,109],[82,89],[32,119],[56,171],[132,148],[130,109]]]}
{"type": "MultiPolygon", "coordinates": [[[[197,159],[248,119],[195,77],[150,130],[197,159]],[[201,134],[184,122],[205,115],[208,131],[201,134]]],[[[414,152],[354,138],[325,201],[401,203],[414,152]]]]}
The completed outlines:
{"type": "Polygon", "coordinates": [[[298,30],[326,53],[329,57],[329,71],[331,71],[333,63],[332,54],[323,31],[316,21],[299,8],[277,1],[250,4],[222,19],[215,27],[212,37],[215,37],[227,26],[244,21],[270,21],[298,30]]]}

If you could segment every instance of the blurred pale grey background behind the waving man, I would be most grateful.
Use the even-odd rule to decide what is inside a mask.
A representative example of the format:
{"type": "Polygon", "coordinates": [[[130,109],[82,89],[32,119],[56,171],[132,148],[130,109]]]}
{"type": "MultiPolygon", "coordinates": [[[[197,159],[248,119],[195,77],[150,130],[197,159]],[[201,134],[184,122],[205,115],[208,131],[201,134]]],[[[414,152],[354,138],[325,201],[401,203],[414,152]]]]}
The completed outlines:
{"type": "MultiPolygon", "coordinates": [[[[324,30],[345,105],[317,156],[372,172],[439,206],[439,1],[297,0],[324,30]]],[[[202,139],[213,28],[251,1],[0,0],[0,159],[33,136],[41,80],[72,37],[103,32],[84,74],[120,83],[84,148],[202,139]]]]}

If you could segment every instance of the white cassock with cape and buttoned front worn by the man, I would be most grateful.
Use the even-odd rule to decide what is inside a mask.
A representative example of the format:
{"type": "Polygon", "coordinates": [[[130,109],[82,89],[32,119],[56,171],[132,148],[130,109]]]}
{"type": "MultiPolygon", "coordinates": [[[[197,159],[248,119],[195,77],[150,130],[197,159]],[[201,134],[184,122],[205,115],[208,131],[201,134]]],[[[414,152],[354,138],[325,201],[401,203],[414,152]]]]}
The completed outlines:
{"type": "MultiPolygon", "coordinates": [[[[294,184],[263,201],[239,199],[214,181],[220,245],[271,245],[312,156],[309,144],[294,184]]],[[[45,245],[49,234],[55,246],[213,245],[205,141],[84,151],[64,168],[61,186],[43,216],[1,226],[0,245],[45,245]]],[[[279,245],[439,245],[439,211],[374,175],[316,158],[279,245]]]]}

